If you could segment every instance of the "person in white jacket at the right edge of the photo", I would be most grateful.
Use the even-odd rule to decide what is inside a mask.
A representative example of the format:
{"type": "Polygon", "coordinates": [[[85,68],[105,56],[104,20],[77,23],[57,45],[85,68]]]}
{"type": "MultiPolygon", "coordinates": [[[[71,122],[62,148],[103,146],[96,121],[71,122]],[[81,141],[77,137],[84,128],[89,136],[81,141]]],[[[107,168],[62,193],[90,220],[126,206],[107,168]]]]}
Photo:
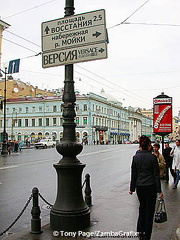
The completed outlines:
{"type": "Polygon", "coordinates": [[[170,156],[173,157],[173,166],[175,173],[175,182],[173,189],[177,189],[179,182],[179,170],[180,170],[180,139],[176,140],[176,146],[171,150],[170,156]]]}

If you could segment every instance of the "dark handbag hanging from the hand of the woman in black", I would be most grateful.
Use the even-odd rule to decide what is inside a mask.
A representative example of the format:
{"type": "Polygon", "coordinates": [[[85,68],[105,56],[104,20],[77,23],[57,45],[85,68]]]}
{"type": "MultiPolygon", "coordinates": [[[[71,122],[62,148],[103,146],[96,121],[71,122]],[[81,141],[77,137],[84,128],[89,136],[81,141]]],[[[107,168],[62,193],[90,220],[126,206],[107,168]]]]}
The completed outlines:
{"type": "Polygon", "coordinates": [[[156,223],[163,223],[167,221],[167,212],[165,208],[165,202],[163,199],[158,199],[154,221],[156,223]]]}

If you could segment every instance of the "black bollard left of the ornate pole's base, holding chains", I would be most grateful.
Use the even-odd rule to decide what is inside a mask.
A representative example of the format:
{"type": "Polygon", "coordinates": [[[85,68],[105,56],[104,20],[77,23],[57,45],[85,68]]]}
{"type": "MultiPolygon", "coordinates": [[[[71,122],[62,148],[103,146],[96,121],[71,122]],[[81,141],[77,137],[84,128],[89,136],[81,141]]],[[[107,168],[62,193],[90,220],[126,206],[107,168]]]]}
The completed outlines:
{"type": "Polygon", "coordinates": [[[36,187],[33,188],[32,194],[33,194],[33,206],[32,206],[32,210],[31,210],[32,219],[31,219],[31,232],[30,233],[40,234],[40,233],[42,233],[42,231],[41,231],[41,218],[40,218],[41,210],[40,210],[39,203],[38,203],[38,197],[39,197],[38,188],[36,188],[36,187]]]}

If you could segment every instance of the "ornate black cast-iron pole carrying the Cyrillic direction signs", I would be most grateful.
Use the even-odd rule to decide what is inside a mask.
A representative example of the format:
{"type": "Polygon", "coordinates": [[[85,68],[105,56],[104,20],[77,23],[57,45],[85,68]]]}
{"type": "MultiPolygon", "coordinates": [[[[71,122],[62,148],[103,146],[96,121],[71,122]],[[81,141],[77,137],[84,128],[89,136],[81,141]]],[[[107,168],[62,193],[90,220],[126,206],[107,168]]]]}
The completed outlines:
{"type": "MultiPolygon", "coordinates": [[[[74,14],[74,0],[66,0],[65,17],[74,14]]],[[[63,139],[56,149],[63,157],[54,164],[57,171],[57,198],[50,212],[55,231],[76,231],[90,226],[90,210],[82,196],[81,175],[85,167],[76,156],[82,145],[76,142],[73,64],[65,65],[63,93],[63,139]]]]}

